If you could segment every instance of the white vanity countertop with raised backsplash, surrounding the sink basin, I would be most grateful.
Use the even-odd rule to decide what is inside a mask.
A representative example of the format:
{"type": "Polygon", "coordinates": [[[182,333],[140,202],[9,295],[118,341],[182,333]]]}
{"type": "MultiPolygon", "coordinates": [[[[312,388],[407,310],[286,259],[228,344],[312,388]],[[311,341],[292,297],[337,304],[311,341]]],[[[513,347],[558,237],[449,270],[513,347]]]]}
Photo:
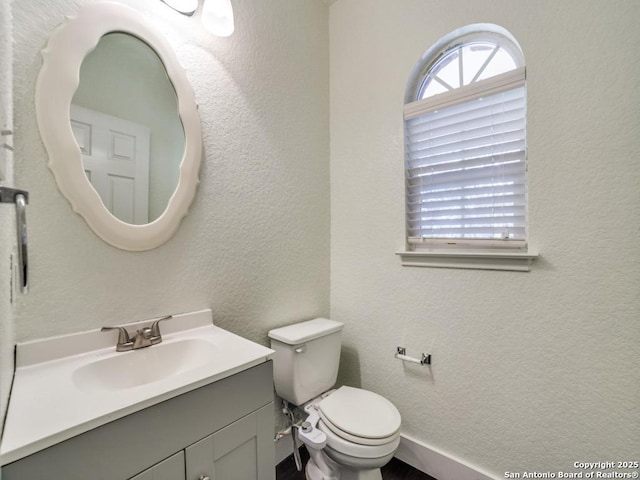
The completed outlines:
{"type": "MultiPolygon", "coordinates": [[[[135,331],[136,327],[150,323],[130,324],[134,327],[128,330],[135,331]]],[[[130,352],[116,352],[116,331],[92,330],[18,344],[15,379],[0,444],[0,464],[14,462],[100,425],[229,377],[266,362],[274,354],[267,347],[213,325],[211,310],[175,315],[162,322],[160,329],[162,343],[130,352]],[[154,371],[159,378],[132,387],[110,389],[79,381],[78,370],[83,366],[102,360],[108,362],[116,356],[138,355],[129,357],[137,364],[141,359],[147,362],[148,358],[145,366],[148,364],[153,369],[154,355],[161,352],[153,351],[154,348],[171,349],[172,344],[178,342],[186,345],[185,340],[191,342],[189,345],[205,345],[206,361],[194,368],[177,369],[163,378],[162,372],[154,371]]],[[[117,360],[122,363],[120,360],[126,359],[117,360]]]]}

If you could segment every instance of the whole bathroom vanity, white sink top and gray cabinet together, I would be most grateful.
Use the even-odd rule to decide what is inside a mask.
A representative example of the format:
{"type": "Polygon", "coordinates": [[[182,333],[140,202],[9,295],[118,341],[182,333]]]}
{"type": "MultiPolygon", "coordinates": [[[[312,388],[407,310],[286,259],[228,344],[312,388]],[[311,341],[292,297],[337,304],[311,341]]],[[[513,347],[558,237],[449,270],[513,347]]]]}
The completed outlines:
{"type": "Polygon", "coordinates": [[[129,352],[99,330],[18,345],[2,477],[274,480],[274,352],[210,310],[161,328],[129,352]]]}

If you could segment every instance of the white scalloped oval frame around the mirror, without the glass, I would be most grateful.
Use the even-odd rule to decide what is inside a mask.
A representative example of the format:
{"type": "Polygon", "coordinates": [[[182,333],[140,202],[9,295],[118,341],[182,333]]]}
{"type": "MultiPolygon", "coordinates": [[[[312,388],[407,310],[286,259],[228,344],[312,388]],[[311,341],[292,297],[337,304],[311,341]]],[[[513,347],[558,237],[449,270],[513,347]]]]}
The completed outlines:
{"type": "Polygon", "coordinates": [[[202,159],[202,131],[195,94],[168,41],[138,11],[126,5],[101,2],[83,7],[51,35],[42,51],[43,66],[36,83],[36,116],[48,166],[73,210],[105,242],[123,250],[150,250],[165,243],[187,214],[198,187],[202,159]],[[69,107],[80,80],[80,66],[107,33],[124,32],[147,43],[162,60],[178,99],[185,150],[178,186],[166,210],[155,221],[131,225],[104,206],[86,178],[82,154],[71,130],[69,107]]]}

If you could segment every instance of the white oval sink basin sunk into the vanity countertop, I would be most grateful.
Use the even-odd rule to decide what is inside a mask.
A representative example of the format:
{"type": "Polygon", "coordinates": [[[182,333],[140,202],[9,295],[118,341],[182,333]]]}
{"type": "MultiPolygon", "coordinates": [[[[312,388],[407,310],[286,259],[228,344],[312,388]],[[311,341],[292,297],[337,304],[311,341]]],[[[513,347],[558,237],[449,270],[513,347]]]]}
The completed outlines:
{"type": "Polygon", "coordinates": [[[213,344],[205,340],[163,342],[82,365],[72,380],[84,391],[134,388],[199,368],[214,361],[215,353],[213,344]]]}

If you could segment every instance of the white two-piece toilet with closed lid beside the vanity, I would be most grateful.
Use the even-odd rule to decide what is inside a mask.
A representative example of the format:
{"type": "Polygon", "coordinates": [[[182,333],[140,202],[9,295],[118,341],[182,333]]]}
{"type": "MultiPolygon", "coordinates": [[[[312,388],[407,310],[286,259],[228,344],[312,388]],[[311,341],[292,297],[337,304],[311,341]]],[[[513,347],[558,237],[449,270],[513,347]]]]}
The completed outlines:
{"type": "Polygon", "coordinates": [[[311,456],[308,480],[382,480],[380,467],[400,443],[400,413],[377,393],[353,387],[331,390],[342,327],[316,318],[271,330],[276,393],[309,414],[299,430],[311,456]]]}

